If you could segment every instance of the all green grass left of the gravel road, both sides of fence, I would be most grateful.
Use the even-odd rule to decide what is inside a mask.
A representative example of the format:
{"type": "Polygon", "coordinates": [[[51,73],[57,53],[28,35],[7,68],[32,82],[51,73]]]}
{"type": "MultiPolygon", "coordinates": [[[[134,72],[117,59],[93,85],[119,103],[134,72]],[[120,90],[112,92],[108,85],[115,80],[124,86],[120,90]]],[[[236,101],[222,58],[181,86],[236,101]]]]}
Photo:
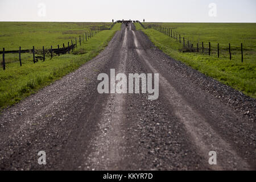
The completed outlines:
{"type": "MultiPolygon", "coordinates": [[[[31,24],[34,24],[34,23],[31,23],[31,24]]],[[[44,26],[47,25],[47,23],[43,23],[43,24],[44,26]]],[[[64,30],[60,31],[60,30],[57,30],[59,28],[56,28],[56,27],[52,28],[51,31],[53,31],[54,29],[58,31],[58,32],[55,32],[53,35],[51,35],[52,34],[51,31],[48,31],[48,32],[39,31],[41,34],[40,36],[42,36],[40,39],[44,40],[47,38],[45,40],[45,43],[49,45],[48,43],[51,43],[51,41],[52,43],[53,42],[57,43],[57,41],[60,41],[58,38],[63,37],[63,39],[61,40],[64,40],[65,36],[68,36],[69,38],[69,36],[79,35],[79,34],[67,35],[62,33],[65,31],[73,31],[72,30],[73,26],[71,26],[71,24],[76,24],[76,23],[67,23],[67,24],[60,23],[61,26],[59,26],[59,28],[63,27],[64,30]],[[52,40],[53,36],[54,38],[52,40]]],[[[79,25],[77,25],[77,27],[80,27],[80,29],[77,28],[77,30],[79,30],[80,32],[84,32],[84,30],[88,30],[90,26],[94,25],[94,23],[89,23],[89,26],[84,27],[83,29],[82,28],[83,23],[81,24],[78,23],[78,24],[79,25]]],[[[106,24],[110,25],[110,23],[102,23],[98,25],[105,26],[106,24]]],[[[41,26],[41,28],[44,29],[44,26],[41,26]]],[[[53,23],[49,23],[47,26],[48,27],[53,26],[53,23]]],[[[29,27],[31,28],[31,26],[29,27]]],[[[18,39],[19,31],[30,30],[30,28],[27,28],[27,23],[24,23],[24,27],[20,25],[20,28],[17,29],[16,32],[15,32],[15,28],[11,28],[11,27],[9,28],[13,30],[12,34],[15,37],[13,38],[12,36],[10,36],[9,37],[10,40],[18,39]]],[[[78,47],[74,50],[74,52],[71,52],[71,54],[53,56],[52,59],[50,55],[47,54],[46,61],[44,62],[42,60],[39,60],[38,63],[34,64],[32,62],[31,53],[22,53],[23,65],[22,67],[20,67],[17,54],[6,54],[6,60],[7,60],[6,70],[3,71],[2,68],[0,69],[0,108],[10,106],[15,104],[16,102],[19,102],[23,98],[29,96],[32,93],[35,93],[37,90],[43,88],[49,83],[67,75],[68,73],[79,68],[82,64],[86,63],[86,61],[91,60],[93,57],[97,56],[98,53],[100,53],[100,51],[102,51],[102,49],[104,49],[104,47],[108,45],[108,42],[112,39],[115,32],[117,30],[120,30],[120,28],[121,28],[121,24],[118,23],[118,24],[115,24],[112,30],[104,30],[99,32],[93,38],[89,39],[88,42],[86,41],[82,42],[81,46],[79,46],[78,44],[78,47]]],[[[31,30],[36,31],[38,30],[38,27],[31,30]]],[[[27,35],[29,35],[28,32],[27,32],[27,35]]],[[[1,41],[2,40],[0,39],[0,42],[1,41]]],[[[9,41],[7,41],[6,39],[6,42],[9,42],[9,41]]],[[[20,44],[24,45],[24,47],[25,45],[27,45],[28,47],[31,47],[36,42],[34,42],[34,39],[30,39],[30,40],[27,40],[27,42],[24,41],[24,44],[22,44],[22,42],[20,42],[20,44]]],[[[1,45],[2,44],[3,43],[1,42],[1,45]]],[[[41,44],[41,46],[43,45],[43,43],[40,43],[40,42],[38,42],[38,44],[41,44]]],[[[11,47],[11,44],[10,44],[10,47],[11,47]]],[[[11,48],[15,48],[15,46],[11,48]]],[[[40,55],[40,52],[37,52],[36,55],[40,55]]],[[[2,58],[0,60],[2,62],[2,58]]]]}

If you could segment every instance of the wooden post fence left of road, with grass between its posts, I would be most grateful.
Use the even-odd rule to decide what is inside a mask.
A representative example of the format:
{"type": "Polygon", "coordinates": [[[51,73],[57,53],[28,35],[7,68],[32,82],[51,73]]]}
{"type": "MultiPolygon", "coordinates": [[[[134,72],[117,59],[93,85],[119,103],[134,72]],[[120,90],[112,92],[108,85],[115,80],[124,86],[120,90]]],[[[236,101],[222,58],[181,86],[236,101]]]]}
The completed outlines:
{"type": "MultiPolygon", "coordinates": [[[[78,38],[72,39],[70,42],[66,44],[57,45],[55,47],[50,46],[48,48],[42,47],[42,49],[35,49],[35,46],[32,46],[31,49],[22,49],[20,46],[18,50],[6,50],[5,48],[0,50],[0,54],[2,55],[2,68],[6,69],[6,54],[18,54],[19,57],[19,65],[22,67],[22,53],[31,53],[31,59],[35,64],[38,60],[46,60],[46,55],[49,55],[52,59],[53,56],[60,56],[61,54],[70,53],[73,49],[77,48],[77,44],[81,46],[81,44],[85,41],[88,41],[94,35],[98,34],[98,32],[105,30],[101,27],[91,28],[89,31],[84,32],[78,38]]],[[[109,30],[109,29],[108,29],[109,30]]]]}

